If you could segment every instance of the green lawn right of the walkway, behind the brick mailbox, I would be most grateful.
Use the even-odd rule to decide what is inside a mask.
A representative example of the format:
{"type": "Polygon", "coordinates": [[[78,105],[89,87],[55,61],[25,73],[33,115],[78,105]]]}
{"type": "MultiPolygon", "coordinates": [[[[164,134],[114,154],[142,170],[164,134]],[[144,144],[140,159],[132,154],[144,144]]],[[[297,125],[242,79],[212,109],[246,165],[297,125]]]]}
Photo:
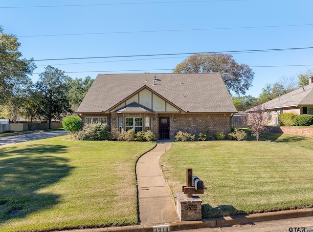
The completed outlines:
{"type": "Polygon", "coordinates": [[[186,168],[208,188],[202,218],[313,205],[313,138],[269,133],[266,141],[174,142],[161,156],[172,193],[186,168]]]}

